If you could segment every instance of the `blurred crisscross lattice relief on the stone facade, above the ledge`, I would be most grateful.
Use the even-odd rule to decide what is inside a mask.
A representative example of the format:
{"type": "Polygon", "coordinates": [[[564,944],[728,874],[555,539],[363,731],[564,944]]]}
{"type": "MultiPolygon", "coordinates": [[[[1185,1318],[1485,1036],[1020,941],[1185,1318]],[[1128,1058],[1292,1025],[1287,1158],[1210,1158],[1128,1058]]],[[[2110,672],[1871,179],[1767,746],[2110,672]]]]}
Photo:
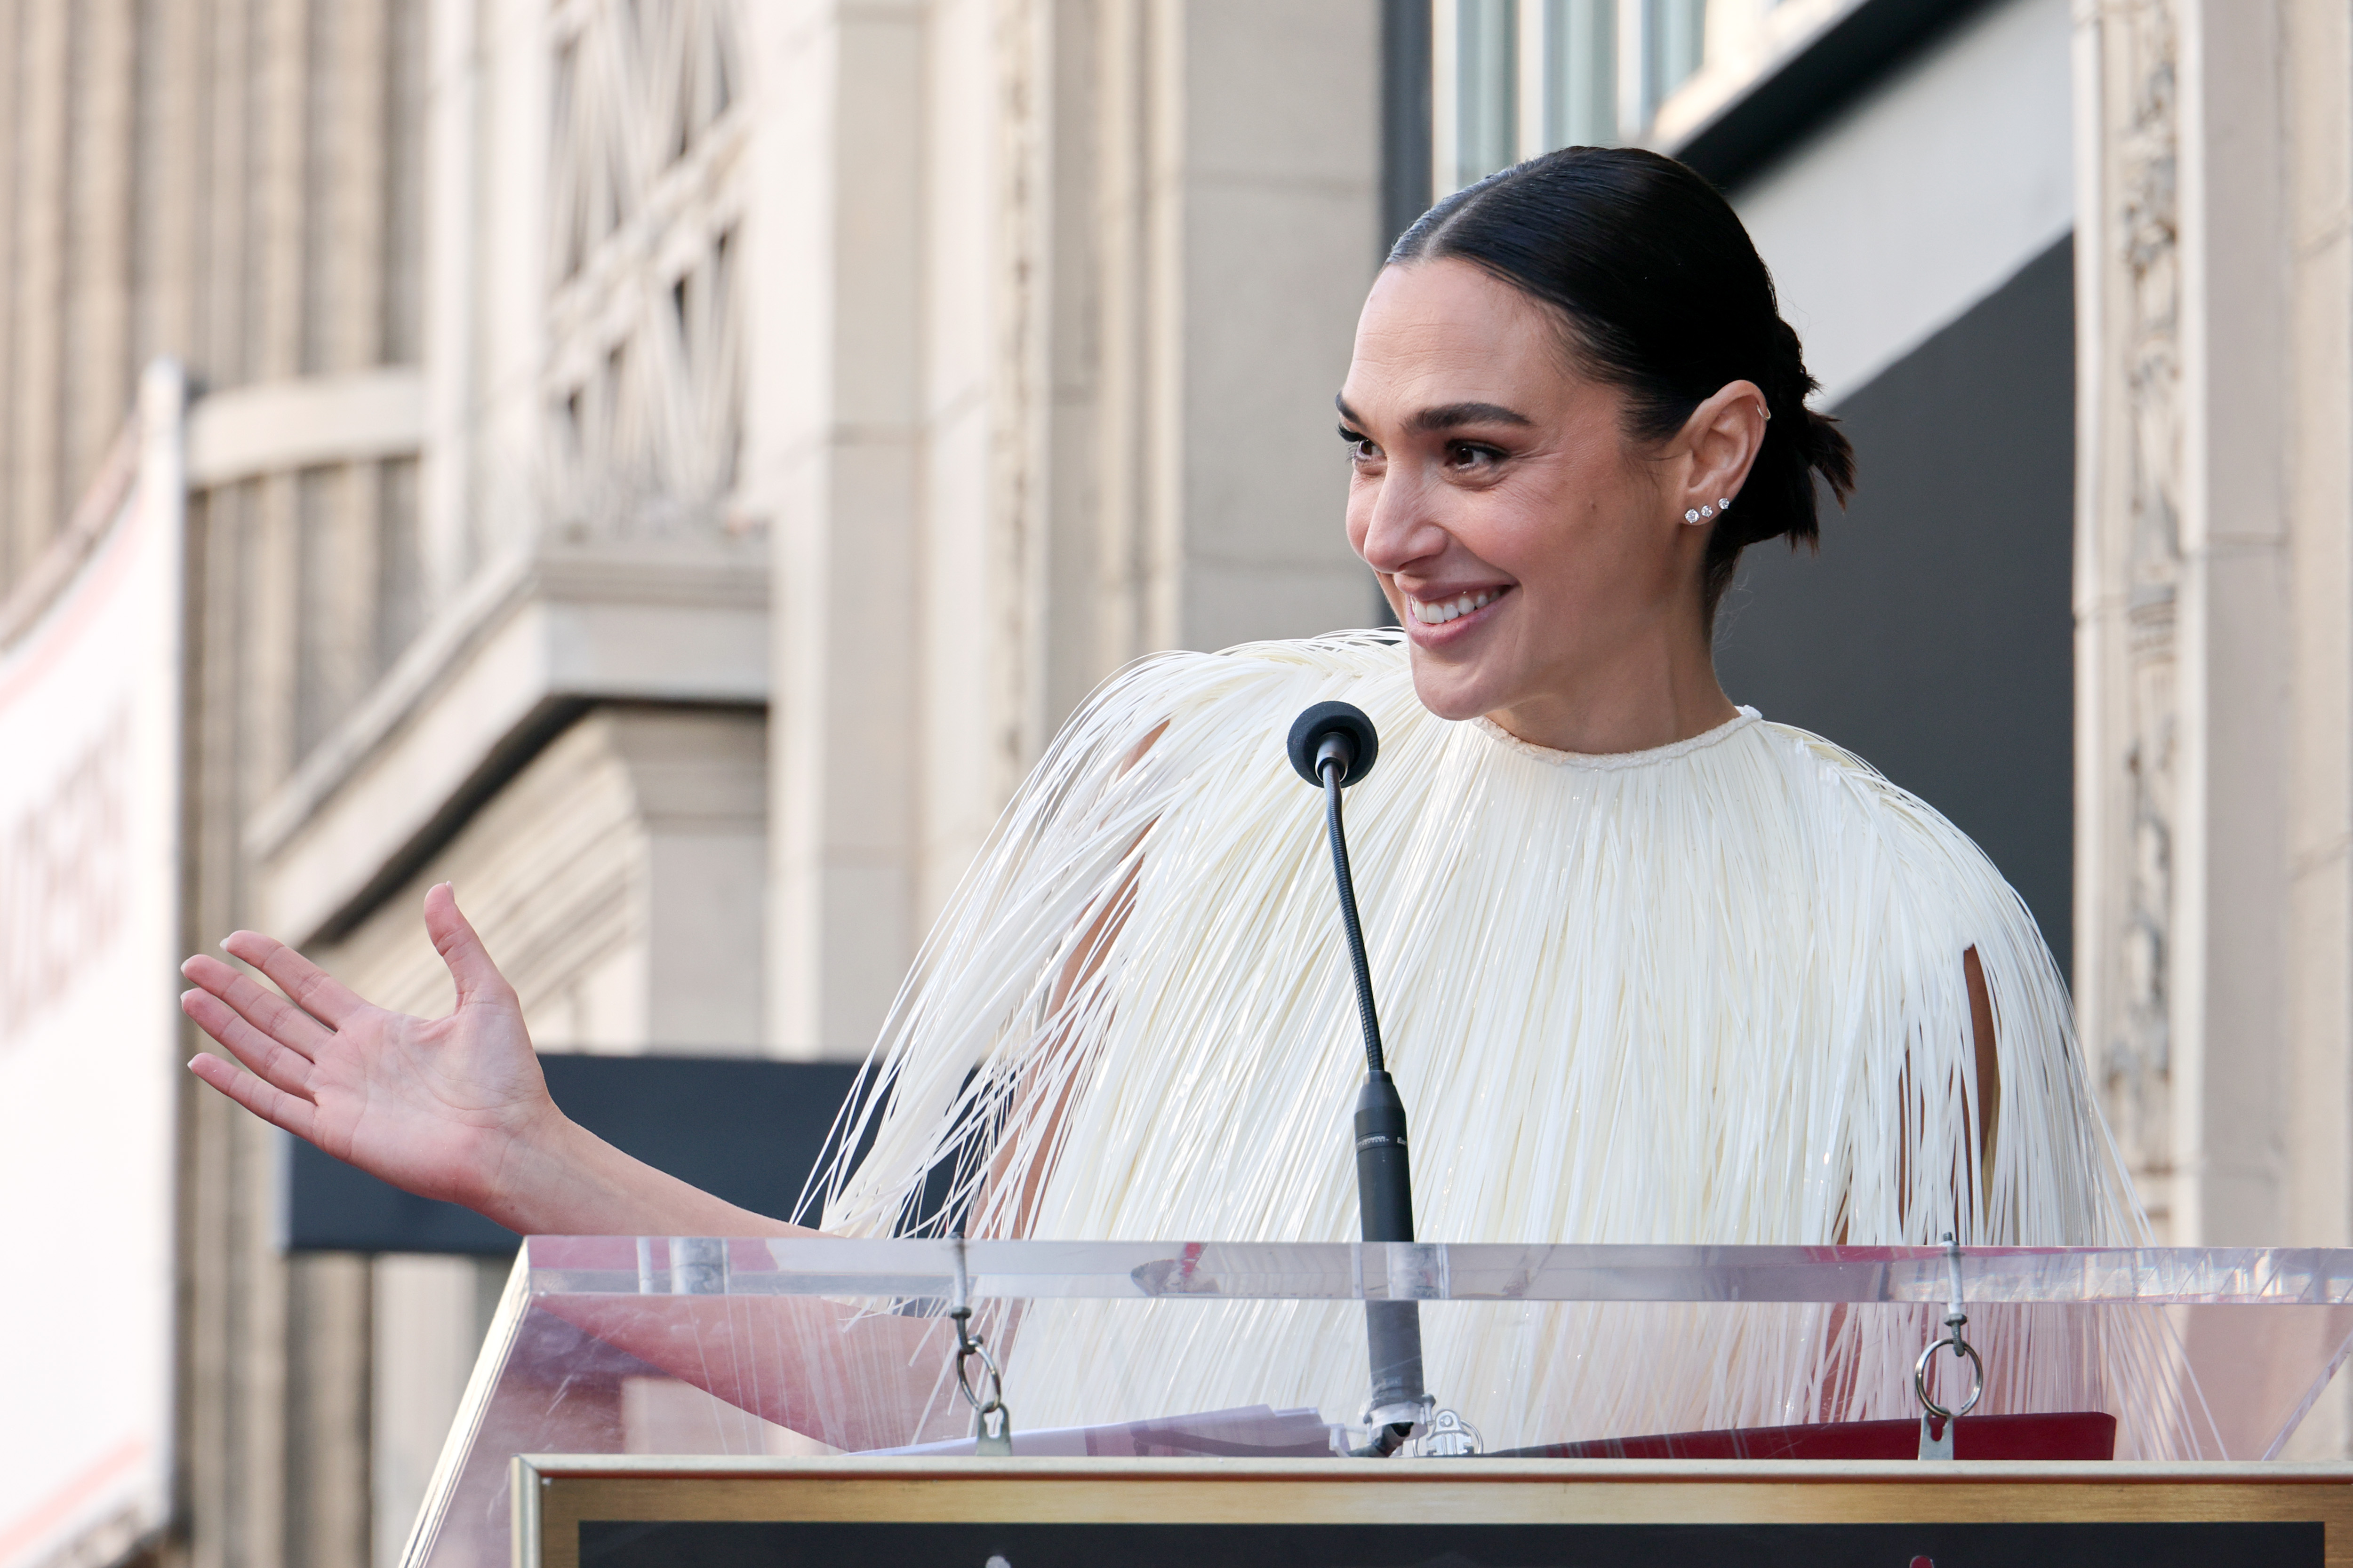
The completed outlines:
{"type": "Polygon", "coordinates": [[[727,527],[741,447],[736,0],[551,16],[541,496],[558,538],[727,527]]]}

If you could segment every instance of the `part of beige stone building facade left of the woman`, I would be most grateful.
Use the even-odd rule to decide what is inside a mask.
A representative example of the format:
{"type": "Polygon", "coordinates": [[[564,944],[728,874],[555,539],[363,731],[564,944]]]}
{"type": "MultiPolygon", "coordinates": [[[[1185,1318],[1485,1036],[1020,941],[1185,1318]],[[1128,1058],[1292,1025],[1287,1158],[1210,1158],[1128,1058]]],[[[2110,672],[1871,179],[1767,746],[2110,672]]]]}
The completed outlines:
{"type": "MultiPolygon", "coordinates": [[[[0,588],[198,393],[188,940],[438,1006],[454,877],[548,1048],[861,1053],[1087,686],[1372,614],[1358,12],[0,7],[0,588]]],[[[278,1143],[186,1093],[160,1549],[388,1561],[499,1265],[278,1143]]]]}

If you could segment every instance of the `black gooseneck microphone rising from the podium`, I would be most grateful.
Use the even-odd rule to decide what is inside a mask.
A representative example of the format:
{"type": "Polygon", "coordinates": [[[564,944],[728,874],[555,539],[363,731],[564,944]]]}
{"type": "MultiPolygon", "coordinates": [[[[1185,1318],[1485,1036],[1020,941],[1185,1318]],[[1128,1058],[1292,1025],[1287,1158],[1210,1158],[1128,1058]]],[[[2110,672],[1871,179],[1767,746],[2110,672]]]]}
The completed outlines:
{"type": "MultiPolygon", "coordinates": [[[[1341,790],[1372,771],[1381,738],[1362,708],[1315,703],[1292,722],[1287,750],[1292,769],[1325,792],[1332,882],[1339,886],[1339,919],[1355,971],[1355,1018],[1365,1034],[1365,1088],[1355,1098],[1358,1222],[1365,1241],[1412,1241],[1414,1175],[1405,1145],[1405,1100],[1381,1058],[1381,1016],[1372,1006],[1372,964],[1365,959],[1365,926],[1355,912],[1355,879],[1348,875],[1348,832],[1341,825],[1341,790]]],[[[1372,1356],[1374,1436],[1355,1453],[1388,1458],[1431,1408],[1421,1389],[1419,1302],[1365,1302],[1365,1342],[1372,1356]]]]}

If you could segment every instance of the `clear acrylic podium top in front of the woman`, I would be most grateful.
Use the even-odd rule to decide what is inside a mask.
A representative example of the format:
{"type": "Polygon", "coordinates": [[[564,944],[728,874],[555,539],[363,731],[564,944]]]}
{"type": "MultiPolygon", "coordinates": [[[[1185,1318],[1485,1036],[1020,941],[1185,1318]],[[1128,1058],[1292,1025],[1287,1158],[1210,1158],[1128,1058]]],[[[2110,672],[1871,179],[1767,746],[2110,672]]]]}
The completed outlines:
{"type": "MultiPolygon", "coordinates": [[[[2118,1465],[2101,1474],[2278,1460],[2353,1340],[2353,1251],[1965,1248],[1958,1272],[1986,1368],[1977,1415],[2104,1410],[2118,1465]]],[[[706,1479],[1224,1465],[1574,1481],[1619,1472],[1546,1455],[1918,1422],[1913,1363],[1944,1333],[1951,1274],[1937,1248],[534,1237],[402,1561],[515,1561],[511,1476],[555,1486],[544,1455],[706,1479]],[[1002,1359],[1012,1460],[969,1458],[960,1255],[972,1324],[1002,1359]],[[1424,1302],[1431,1396],[1489,1458],[1344,1458],[1365,1300],[1424,1302]]]]}

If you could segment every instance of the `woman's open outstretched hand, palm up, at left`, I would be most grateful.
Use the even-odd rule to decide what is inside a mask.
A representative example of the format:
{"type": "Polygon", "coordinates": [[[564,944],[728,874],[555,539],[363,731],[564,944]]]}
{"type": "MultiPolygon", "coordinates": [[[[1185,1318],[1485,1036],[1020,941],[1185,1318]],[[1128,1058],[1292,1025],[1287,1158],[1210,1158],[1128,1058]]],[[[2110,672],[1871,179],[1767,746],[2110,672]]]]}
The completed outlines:
{"type": "Polygon", "coordinates": [[[567,1124],[515,987],[447,882],[426,893],[426,933],[456,980],[456,1011],[433,1020],[372,1006],[285,943],[238,931],[221,945],[278,990],[207,954],[181,964],[198,987],[181,1009],[245,1072],[209,1053],[188,1067],[341,1161],[504,1220],[525,1197],[504,1187],[539,1164],[527,1150],[558,1140],[567,1124]]]}

